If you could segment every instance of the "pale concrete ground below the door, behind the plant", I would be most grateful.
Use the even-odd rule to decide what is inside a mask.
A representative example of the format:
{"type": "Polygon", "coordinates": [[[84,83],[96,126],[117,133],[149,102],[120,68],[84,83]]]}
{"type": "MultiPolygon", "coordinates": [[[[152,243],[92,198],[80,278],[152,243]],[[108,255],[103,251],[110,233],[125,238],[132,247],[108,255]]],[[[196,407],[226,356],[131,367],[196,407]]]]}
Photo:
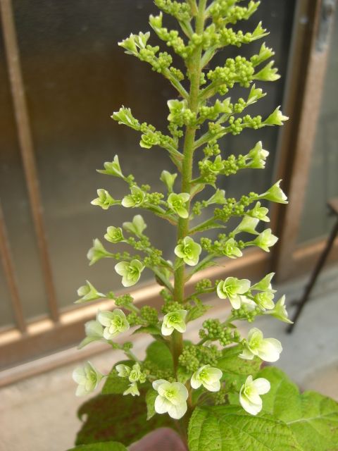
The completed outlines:
{"type": "MultiPolygon", "coordinates": [[[[297,324],[294,333],[285,333],[285,324],[275,319],[258,319],[254,325],[266,337],[282,341],[284,351],[277,362],[280,368],[303,389],[318,390],[338,399],[338,267],[325,271],[315,294],[297,324]]],[[[304,279],[280,286],[288,302],[299,296],[304,279]]],[[[221,318],[226,311],[219,299],[211,315],[221,318]]],[[[292,309],[289,308],[289,311],[292,309]]],[[[196,322],[191,323],[192,338],[196,322]]],[[[249,326],[250,327],[250,326],[249,326]]],[[[245,336],[246,325],[242,328],[245,336]]],[[[140,336],[135,352],[142,356],[146,340],[140,336]]],[[[108,371],[120,359],[118,352],[105,352],[92,358],[98,368],[108,371]]],[[[74,364],[15,383],[0,390],[0,451],[65,451],[74,443],[80,428],[77,407],[84,401],[75,397],[71,378],[74,364]]]]}

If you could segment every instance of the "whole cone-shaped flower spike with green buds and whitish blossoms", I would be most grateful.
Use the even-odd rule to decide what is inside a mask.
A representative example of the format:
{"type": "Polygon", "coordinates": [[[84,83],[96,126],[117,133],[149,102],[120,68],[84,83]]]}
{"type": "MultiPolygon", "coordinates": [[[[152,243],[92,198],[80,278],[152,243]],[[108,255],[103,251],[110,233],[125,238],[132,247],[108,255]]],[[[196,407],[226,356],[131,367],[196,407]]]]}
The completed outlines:
{"type": "MultiPolygon", "coordinates": [[[[261,362],[275,362],[279,358],[282,351],[280,342],[275,338],[263,338],[258,328],[251,328],[249,335],[242,338],[235,322],[251,323],[263,315],[289,322],[284,297],[275,301],[275,290],[271,286],[273,273],[256,284],[231,276],[215,283],[201,279],[188,297],[184,286],[194,274],[215,264],[219,257],[240,258],[244,249],[251,246],[269,252],[277,241],[270,228],[261,233],[256,228],[258,223],[270,221],[265,206],[267,202],[287,203],[280,181],[262,194],[250,192],[234,199],[227,197],[218,187],[218,180],[242,170],[264,169],[269,154],[260,140],[244,154],[226,154],[223,137],[239,135],[245,128],[258,130],[282,125],[287,117],[282,115],[280,107],[267,118],[243,113],[244,109],[265,96],[263,89],[255,83],[273,82],[279,78],[273,61],[266,62],[273,56],[273,50],[264,43],[258,54],[249,59],[242,56],[225,58],[221,66],[208,68],[216,52],[226,50],[228,46],[240,48],[268,35],[259,22],[252,32],[244,33],[233,27],[241,20],[249,19],[256,12],[259,1],[154,2],[161,11],[158,16],[150,16],[151,29],[176,57],[182,58],[184,73],[173,66],[173,56],[150,44],[150,32],[132,34],[119,45],[125,53],[149,63],[176,89],[177,99],[168,100],[170,135],[164,135],[153,125],[141,123],[124,106],[113,113],[112,118],[139,132],[143,149],[165,149],[177,173],[163,170],[159,176],[166,192],[151,192],[149,185],[139,185],[133,175],[125,175],[118,156],[115,156],[113,161],[104,163],[104,169],[99,172],[123,180],[127,186],[125,197],[114,199],[107,190],[99,189],[92,204],[105,210],[115,206],[144,209],[168,221],[177,230],[173,249],[175,261],[168,260],[172,256],[163,256],[161,249],[151,245],[145,233],[146,223],[139,213],[122,227],[118,224],[108,227],[104,235],[110,248],[119,243],[131,247],[134,253],[127,250],[111,252],[99,239],[94,240],[88,252],[90,264],[106,258],[117,261],[115,271],[122,276],[124,287],[138,283],[144,268],[153,271],[163,288],[163,316],[159,316],[152,307],[139,309],[129,294],[104,294],[87,281],[78,290],[80,299],[77,302],[106,297],[114,299],[116,309],[99,311],[96,320],[87,323],[86,338],[80,347],[101,340],[113,349],[125,351],[127,360],[117,364],[105,376],[92,364],[87,364],[84,369],[75,370],[74,378],[81,387],[77,390],[78,395],[94,390],[101,379],[107,377],[109,386],[115,381],[113,393],[132,395],[135,399],[145,396],[148,418],[157,413],[168,414],[175,421],[182,419],[180,431],[185,438],[189,418],[189,429],[193,429],[194,419],[199,414],[196,412],[201,412],[203,406],[228,409],[233,407],[232,404],[240,404],[251,418],[250,415],[256,416],[261,412],[260,395],[270,390],[269,381],[255,376],[261,362]],[[178,30],[168,30],[163,26],[163,13],[177,20],[178,30]],[[245,98],[233,99],[228,94],[235,85],[247,88],[245,98]],[[194,161],[198,167],[196,173],[194,161]],[[175,192],[178,180],[180,190],[175,192]],[[213,195],[202,201],[196,200],[196,194],[203,192],[208,185],[214,188],[213,195]],[[204,209],[211,211],[211,215],[198,223],[204,209]],[[230,218],[237,219],[233,230],[228,230],[230,218]],[[217,239],[198,237],[211,229],[219,229],[217,239]],[[199,341],[184,342],[187,323],[208,311],[208,304],[204,304],[201,298],[210,293],[215,293],[219,302],[231,307],[230,315],[223,322],[206,319],[199,330],[199,341]],[[144,361],[133,354],[132,342],[120,344],[120,341],[115,341],[116,337],[128,333],[131,327],[137,327],[137,333],[148,333],[154,338],[144,361]],[[170,351],[165,365],[155,349],[162,350],[156,351],[161,355],[170,351]],[[230,377],[230,373],[237,376],[230,377]]],[[[104,393],[107,390],[104,388],[104,393]]]]}

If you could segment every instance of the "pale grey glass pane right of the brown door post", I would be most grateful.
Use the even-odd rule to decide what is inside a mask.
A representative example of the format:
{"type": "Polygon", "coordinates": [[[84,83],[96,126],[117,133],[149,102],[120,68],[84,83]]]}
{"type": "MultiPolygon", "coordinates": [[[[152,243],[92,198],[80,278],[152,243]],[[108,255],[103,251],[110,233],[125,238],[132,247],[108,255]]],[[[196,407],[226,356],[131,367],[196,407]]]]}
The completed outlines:
{"type": "Polygon", "coordinates": [[[326,203],[338,196],[338,11],[336,11],[322,108],[313,145],[306,202],[299,231],[299,242],[327,235],[333,218],[326,203]]]}

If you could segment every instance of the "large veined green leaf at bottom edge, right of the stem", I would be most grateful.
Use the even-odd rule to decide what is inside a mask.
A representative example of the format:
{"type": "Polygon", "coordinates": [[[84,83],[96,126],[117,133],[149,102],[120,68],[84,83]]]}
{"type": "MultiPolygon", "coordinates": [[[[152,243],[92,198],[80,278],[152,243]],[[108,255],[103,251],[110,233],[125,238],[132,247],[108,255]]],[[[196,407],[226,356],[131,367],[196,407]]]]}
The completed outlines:
{"type": "Polygon", "coordinates": [[[267,414],[251,416],[230,405],[196,408],[188,442],[190,451],[304,451],[282,421],[267,414]]]}

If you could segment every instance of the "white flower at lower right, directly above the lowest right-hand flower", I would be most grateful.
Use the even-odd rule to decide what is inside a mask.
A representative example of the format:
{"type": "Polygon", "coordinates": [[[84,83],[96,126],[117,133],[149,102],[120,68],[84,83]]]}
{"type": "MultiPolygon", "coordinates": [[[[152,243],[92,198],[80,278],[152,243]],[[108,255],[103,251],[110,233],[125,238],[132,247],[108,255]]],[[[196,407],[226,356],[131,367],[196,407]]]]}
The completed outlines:
{"type": "Polygon", "coordinates": [[[246,360],[252,360],[258,356],[265,362],[276,362],[280,358],[282,345],[276,338],[263,338],[263,333],[254,327],[249,330],[248,339],[245,342],[245,348],[239,357],[246,360]]]}

